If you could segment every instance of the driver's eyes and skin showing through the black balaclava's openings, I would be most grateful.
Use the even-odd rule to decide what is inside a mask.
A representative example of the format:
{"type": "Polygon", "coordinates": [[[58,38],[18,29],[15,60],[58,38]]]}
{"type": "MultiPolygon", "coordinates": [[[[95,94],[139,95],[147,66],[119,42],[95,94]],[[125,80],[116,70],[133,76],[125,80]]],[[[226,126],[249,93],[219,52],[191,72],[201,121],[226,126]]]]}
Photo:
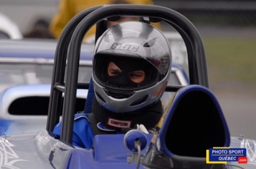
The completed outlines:
{"type": "MultiPolygon", "coordinates": [[[[108,75],[109,76],[117,76],[122,73],[122,70],[119,69],[118,66],[114,62],[108,63],[108,75]]],[[[137,70],[134,72],[129,72],[128,73],[130,79],[134,83],[142,83],[142,81],[145,79],[145,72],[142,70],[137,70]]]]}

